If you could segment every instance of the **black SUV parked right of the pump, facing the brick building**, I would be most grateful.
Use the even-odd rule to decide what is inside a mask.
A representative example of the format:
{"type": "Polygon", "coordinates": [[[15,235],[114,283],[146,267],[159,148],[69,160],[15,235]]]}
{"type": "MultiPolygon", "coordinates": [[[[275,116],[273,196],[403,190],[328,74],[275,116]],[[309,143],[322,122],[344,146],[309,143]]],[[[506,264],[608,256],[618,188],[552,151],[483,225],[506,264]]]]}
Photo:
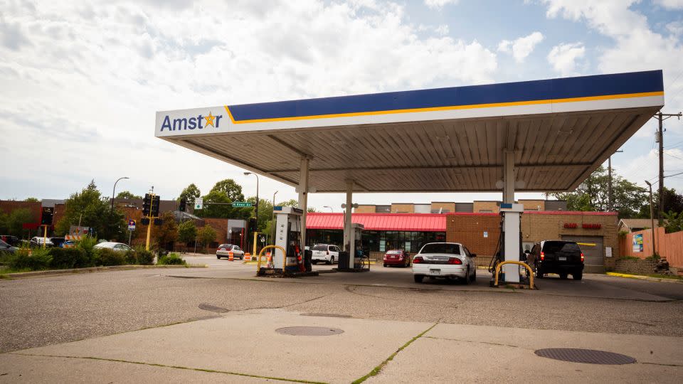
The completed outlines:
{"type": "Polygon", "coordinates": [[[583,277],[583,252],[573,241],[544,240],[536,242],[527,255],[539,279],[546,273],[556,273],[560,279],[568,274],[575,280],[583,277]]]}

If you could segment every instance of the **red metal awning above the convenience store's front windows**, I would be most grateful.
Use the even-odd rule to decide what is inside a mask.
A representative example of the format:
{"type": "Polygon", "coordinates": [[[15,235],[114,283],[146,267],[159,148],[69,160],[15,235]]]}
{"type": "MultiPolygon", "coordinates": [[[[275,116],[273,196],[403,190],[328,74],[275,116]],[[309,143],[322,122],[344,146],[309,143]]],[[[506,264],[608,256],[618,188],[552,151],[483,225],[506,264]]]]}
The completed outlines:
{"type": "MultiPolygon", "coordinates": [[[[437,213],[354,213],[351,222],[362,224],[365,230],[446,231],[446,215],[437,213]]],[[[341,230],[344,214],[309,213],[306,228],[341,230]]]]}

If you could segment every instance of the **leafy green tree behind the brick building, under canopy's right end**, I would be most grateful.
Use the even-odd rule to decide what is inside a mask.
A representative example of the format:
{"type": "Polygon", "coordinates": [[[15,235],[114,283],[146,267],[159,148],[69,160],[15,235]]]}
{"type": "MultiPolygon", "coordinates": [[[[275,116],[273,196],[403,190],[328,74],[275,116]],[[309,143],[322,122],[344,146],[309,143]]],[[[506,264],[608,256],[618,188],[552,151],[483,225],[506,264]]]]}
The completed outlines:
{"type": "MultiPolygon", "coordinates": [[[[550,193],[549,196],[566,200],[568,210],[605,211],[608,210],[609,205],[608,183],[607,171],[600,166],[576,188],[576,191],[550,193]]],[[[619,218],[637,217],[648,201],[645,188],[641,188],[615,173],[612,176],[612,196],[613,210],[619,213],[619,218]]]]}

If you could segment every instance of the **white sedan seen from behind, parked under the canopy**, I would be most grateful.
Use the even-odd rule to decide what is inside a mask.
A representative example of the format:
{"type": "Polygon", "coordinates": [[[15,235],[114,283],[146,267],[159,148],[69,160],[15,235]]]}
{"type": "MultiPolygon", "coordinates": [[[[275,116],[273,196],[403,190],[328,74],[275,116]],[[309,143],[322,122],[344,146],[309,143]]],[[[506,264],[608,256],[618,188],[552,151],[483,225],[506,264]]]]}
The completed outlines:
{"type": "Polygon", "coordinates": [[[429,242],[413,257],[413,279],[458,279],[470,284],[477,278],[476,256],[457,242],[429,242]]]}

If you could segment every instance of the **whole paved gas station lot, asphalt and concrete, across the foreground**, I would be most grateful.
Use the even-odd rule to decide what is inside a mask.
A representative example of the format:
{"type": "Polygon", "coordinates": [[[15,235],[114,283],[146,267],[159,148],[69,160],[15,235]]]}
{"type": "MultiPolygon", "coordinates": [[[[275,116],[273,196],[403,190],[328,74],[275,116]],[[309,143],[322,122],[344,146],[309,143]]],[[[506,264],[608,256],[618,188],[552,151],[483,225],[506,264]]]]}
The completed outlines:
{"type": "Polygon", "coordinates": [[[542,279],[535,291],[494,289],[485,270],[470,285],[416,284],[410,269],[381,265],[363,273],[256,278],[253,264],[186,260],[208,267],[1,280],[0,381],[139,382],[163,374],[171,381],[348,383],[401,346],[370,380],[521,380],[536,369],[550,381],[666,382],[683,373],[674,353],[683,341],[683,284],[586,274],[580,282],[542,279]],[[287,326],[344,333],[275,333],[287,326]],[[551,361],[534,355],[541,347],[614,351],[638,363],[551,361]],[[478,370],[426,375],[415,358],[429,351],[452,355],[420,367],[436,372],[460,356],[478,370]],[[494,370],[496,362],[506,370],[494,370]]]}

